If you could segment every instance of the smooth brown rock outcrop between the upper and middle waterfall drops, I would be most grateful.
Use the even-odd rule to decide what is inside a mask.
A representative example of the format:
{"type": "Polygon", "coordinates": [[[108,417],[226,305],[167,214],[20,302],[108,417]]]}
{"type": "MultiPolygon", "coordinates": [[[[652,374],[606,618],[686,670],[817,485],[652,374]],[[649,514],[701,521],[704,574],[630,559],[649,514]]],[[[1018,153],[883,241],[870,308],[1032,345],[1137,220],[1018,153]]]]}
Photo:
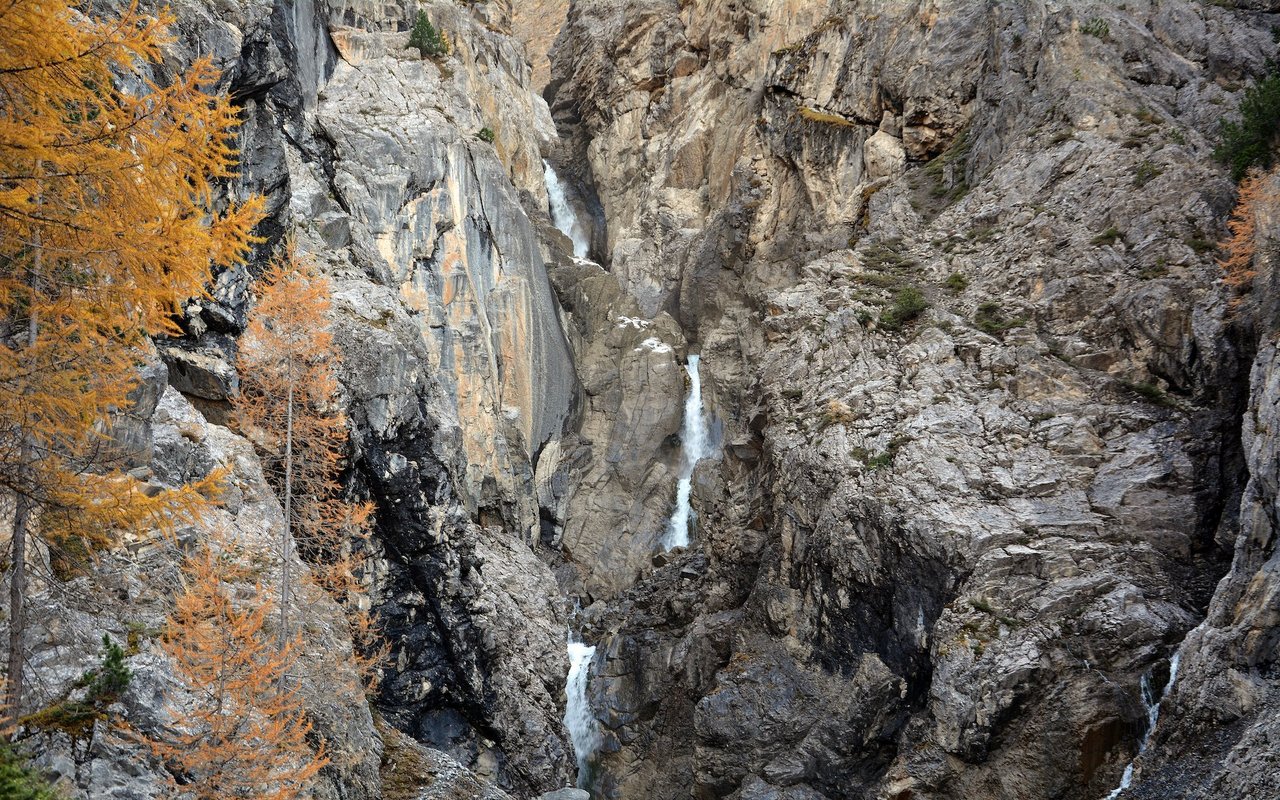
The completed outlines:
{"type": "Polygon", "coordinates": [[[668,314],[648,319],[614,275],[568,257],[541,230],[581,380],[568,433],[538,463],[544,538],[577,564],[572,594],[608,596],[658,552],[676,481],[686,343],[668,314]]]}

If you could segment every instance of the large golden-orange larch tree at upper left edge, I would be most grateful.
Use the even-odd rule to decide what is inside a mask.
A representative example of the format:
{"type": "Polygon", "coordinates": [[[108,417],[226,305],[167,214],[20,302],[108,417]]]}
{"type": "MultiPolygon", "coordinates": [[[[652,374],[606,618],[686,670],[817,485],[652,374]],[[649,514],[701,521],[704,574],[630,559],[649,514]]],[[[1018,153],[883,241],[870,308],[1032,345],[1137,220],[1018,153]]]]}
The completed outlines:
{"type": "Polygon", "coordinates": [[[259,198],[216,210],[236,110],[207,59],[146,79],[172,17],[101,19],[68,0],[0,8],[0,518],[10,534],[8,701],[23,700],[27,540],[100,545],[189,512],[146,498],[113,453],[146,337],[211,264],[242,259],[259,198]],[[145,86],[133,96],[116,77],[145,86]]]}

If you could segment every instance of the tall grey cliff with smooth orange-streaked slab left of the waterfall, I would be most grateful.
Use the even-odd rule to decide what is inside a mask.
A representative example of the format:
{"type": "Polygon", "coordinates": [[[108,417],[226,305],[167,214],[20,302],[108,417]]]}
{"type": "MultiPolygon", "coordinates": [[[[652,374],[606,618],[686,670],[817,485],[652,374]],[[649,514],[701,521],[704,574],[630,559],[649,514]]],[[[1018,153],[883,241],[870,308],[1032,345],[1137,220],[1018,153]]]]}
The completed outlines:
{"type": "MultiPolygon", "coordinates": [[[[224,69],[219,88],[243,115],[228,195],[265,195],[268,218],[250,265],[189,303],[188,335],[161,353],[174,388],[225,421],[253,275],[285,236],[321,264],[352,424],[347,479],[378,502],[371,593],[392,645],[379,703],[475,780],[534,796],[563,786],[572,763],[563,608],[536,549],[534,474],[577,389],[520,200],[545,206],[539,154],[554,128],[502,32],[509,4],[422,8],[448,56],[407,47],[417,4],[174,9],[160,72],[202,54],[224,69]]],[[[371,730],[339,733],[362,737],[352,750],[376,768],[371,730]]],[[[366,777],[332,788],[378,796],[376,772],[366,777]]]]}

